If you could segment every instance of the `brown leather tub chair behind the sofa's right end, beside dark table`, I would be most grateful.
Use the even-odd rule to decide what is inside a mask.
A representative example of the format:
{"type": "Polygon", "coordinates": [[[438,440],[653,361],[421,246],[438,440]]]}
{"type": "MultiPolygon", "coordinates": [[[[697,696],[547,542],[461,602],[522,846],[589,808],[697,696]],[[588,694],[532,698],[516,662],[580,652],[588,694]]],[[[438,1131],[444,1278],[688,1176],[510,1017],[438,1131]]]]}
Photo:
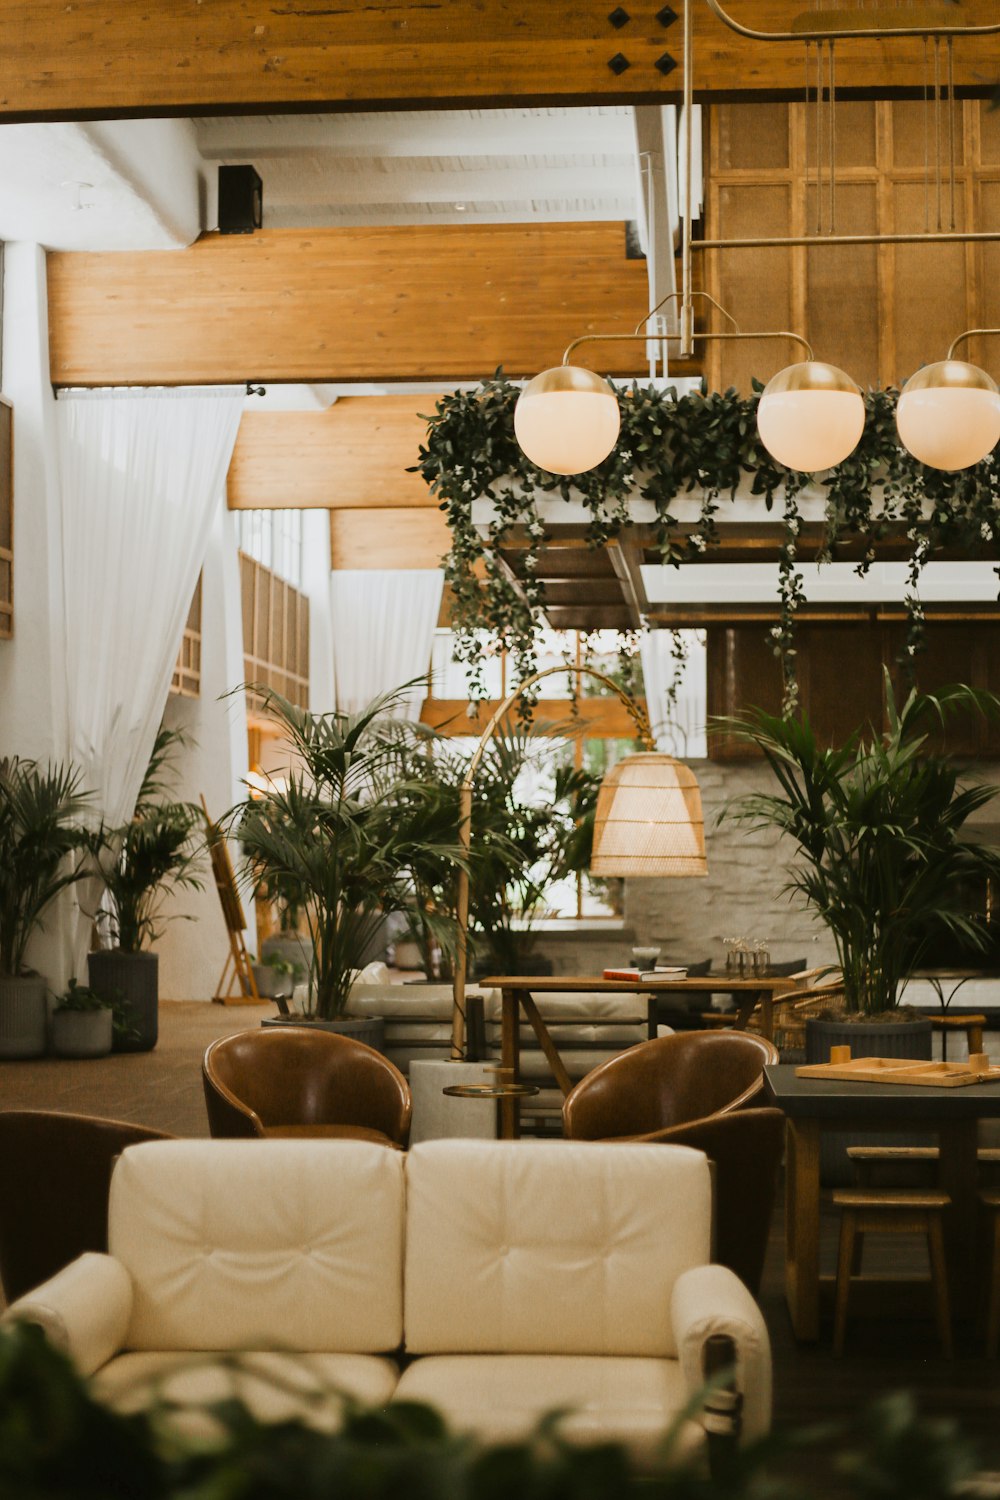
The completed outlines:
{"type": "Polygon", "coordinates": [[[756,1294],[784,1146],[784,1114],[762,1108],[778,1048],[748,1032],[682,1032],[589,1072],[562,1106],[573,1140],[694,1146],[715,1162],[715,1260],[756,1294]]]}

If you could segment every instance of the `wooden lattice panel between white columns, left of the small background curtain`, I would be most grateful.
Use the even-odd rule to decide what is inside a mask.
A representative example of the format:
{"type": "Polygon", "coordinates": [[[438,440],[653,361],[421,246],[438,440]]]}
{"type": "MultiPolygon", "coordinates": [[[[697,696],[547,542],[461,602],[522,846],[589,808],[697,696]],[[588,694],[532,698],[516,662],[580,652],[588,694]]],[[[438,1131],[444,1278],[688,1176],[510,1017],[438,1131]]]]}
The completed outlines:
{"type": "MultiPolygon", "coordinates": [[[[309,708],[309,600],[246,552],[240,585],[246,681],[309,708]]],[[[259,694],[249,694],[247,706],[258,708],[259,694]]]]}

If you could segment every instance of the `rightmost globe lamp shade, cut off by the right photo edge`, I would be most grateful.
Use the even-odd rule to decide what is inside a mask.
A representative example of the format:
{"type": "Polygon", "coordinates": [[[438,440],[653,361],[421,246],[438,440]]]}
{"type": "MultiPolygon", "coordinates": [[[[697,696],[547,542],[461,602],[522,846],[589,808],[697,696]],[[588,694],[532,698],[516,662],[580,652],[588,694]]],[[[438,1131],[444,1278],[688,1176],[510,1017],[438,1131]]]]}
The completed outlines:
{"type": "Polygon", "coordinates": [[[930,468],[979,464],[1000,441],[996,381],[964,360],[939,360],[912,375],[897,402],[900,442],[930,468]]]}

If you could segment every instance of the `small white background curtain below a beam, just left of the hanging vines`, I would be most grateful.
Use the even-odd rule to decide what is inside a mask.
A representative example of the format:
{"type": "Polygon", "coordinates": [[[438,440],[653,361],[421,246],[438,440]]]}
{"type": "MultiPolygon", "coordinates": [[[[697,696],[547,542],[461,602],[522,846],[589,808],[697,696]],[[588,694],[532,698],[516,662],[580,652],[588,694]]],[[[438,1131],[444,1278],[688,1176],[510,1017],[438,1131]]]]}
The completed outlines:
{"type": "MultiPolygon", "coordinates": [[[[430,668],[441,612],[439,568],[336,570],[330,579],[337,708],[355,714],[430,668]]],[[[420,718],[424,686],[409,690],[400,718],[420,718]]]]}

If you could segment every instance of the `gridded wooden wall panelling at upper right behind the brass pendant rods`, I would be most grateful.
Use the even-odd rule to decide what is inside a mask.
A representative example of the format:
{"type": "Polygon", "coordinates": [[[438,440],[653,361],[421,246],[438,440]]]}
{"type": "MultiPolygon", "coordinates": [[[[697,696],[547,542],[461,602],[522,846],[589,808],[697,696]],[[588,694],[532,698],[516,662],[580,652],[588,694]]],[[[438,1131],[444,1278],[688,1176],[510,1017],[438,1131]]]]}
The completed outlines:
{"type": "MultiPolygon", "coordinates": [[[[937,228],[934,117],[919,100],[837,105],[837,234],[925,230],[925,123],[930,228],[937,228]]],[[[826,124],[822,126],[826,130],[826,124]]],[[[816,105],[714,105],[709,111],[706,237],[816,232],[816,105]]],[[[948,117],[943,228],[949,228],[948,117]]],[[[955,228],[1000,228],[1000,112],[957,106],[955,228]]],[[[825,138],[826,144],[826,138],[825,138]]],[[[826,182],[823,213],[828,214],[826,182]]],[[[945,358],[970,327],[1000,324],[1000,242],[981,244],[787,246],[712,250],[706,290],[744,330],[790,328],[816,357],[859,386],[901,384],[945,358]]],[[[801,358],[793,345],[706,345],[709,386],[750,390],[801,358]]],[[[970,340],[963,358],[996,372],[1000,340],[970,340]]]]}

